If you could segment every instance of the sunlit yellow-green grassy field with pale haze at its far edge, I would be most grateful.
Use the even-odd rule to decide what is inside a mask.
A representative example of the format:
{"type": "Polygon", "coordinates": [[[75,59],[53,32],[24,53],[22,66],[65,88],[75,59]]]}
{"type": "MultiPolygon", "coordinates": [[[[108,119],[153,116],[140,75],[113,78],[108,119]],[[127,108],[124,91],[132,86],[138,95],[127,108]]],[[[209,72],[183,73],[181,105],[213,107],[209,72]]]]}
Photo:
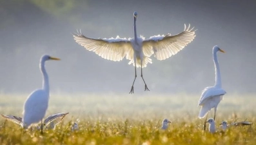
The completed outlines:
{"type": "MultiPolygon", "coordinates": [[[[21,116],[26,97],[0,95],[0,113],[21,116]]],[[[1,118],[0,144],[256,144],[254,124],[224,133],[218,125],[239,118],[255,122],[253,98],[225,95],[217,110],[218,132],[211,134],[202,131],[204,119],[197,118],[196,95],[53,94],[46,116],[69,112],[55,130],[41,135],[1,118]],[[172,121],[166,131],[159,130],[164,118],[172,121]],[[70,130],[72,122],[79,123],[78,131],[70,130]]]]}

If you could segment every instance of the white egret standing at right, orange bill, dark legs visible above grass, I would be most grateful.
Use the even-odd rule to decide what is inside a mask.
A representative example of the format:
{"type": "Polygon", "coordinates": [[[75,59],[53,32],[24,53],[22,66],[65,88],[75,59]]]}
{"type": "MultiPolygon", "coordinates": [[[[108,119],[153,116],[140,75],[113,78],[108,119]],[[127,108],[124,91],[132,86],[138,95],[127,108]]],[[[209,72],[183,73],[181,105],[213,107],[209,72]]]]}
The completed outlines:
{"type": "MultiPolygon", "coordinates": [[[[214,86],[208,86],[206,88],[204,88],[204,90],[202,91],[202,95],[199,99],[199,103],[198,106],[201,106],[201,110],[199,112],[199,118],[203,118],[205,117],[206,114],[208,114],[208,112],[210,110],[212,110],[212,108],[214,108],[214,117],[213,119],[215,119],[215,115],[216,115],[216,111],[217,111],[217,106],[219,104],[219,102],[222,101],[222,95],[224,95],[226,92],[225,90],[222,89],[221,86],[221,72],[219,69],[219,62],[217,59],[217,52],[223,52],[224,50],[221,50],[221,48],[219,48],[219,46],[215,45],[213,46],[213,62],[215,64],[215,85],[214,86]]],[[[205,123],[207,120],[207,116],[204,122],[204,130],[205,130],[205,123]]]]}

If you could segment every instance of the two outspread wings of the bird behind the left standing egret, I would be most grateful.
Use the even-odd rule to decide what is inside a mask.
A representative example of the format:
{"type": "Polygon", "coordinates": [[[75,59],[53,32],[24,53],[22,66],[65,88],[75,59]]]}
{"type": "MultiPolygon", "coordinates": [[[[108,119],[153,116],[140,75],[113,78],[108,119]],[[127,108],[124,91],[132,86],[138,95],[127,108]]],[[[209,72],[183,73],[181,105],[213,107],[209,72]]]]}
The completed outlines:
{"type": "MultiPolygon", "coordinates": [[[[44,119],[43,124],[45,127],[49,126],[48,127],[49,129],[54,129],[57,124],[63,121],[64,117],[67,114],[68,113],[56,113],[56,114],[50,115],[46,119],[44,119]]],[[[23,121],[21,117],[17,117],[14,115],[2,115],[2,117],[7,119],[8,121],[12,121],[16,124],[19,124],[21,127],[23,127],[23,121]]],[[[41,129],[41,126],[40,126],[40,129],[41,129]]]]}

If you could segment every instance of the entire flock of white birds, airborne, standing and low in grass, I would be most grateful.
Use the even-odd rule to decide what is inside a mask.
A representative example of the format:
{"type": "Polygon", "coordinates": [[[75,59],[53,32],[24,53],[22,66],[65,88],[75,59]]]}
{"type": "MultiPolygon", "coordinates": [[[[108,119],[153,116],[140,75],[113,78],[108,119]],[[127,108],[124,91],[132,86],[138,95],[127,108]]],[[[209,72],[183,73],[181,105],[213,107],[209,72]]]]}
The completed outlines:
{"type": "MultiPolygon", "coordinates": [[[[128,64],[133,64],[135,66],[135,78],[132,83],[132,88],[130,93],[134,93],[134,82],[137,77],[136,68],[141,67],[141,77],[143,78],[143,68],[146,67],[148,63],[152,63],[152,59],[150,56],[153,55],[158,60],[164,60],[172,55],[175,55],[180,50],[182,50],[185,46],[193,41],[195,38],[195,31],[193,28],[184,27],[184,30],[177,35],[155,35],[150,37],[149,39],[145,39],[143,36],[137,37],[136,31],[136,21],[137,21],[137,12],[133,13],[134,18],[134,37],[133,38],[120,38],[117,36],[115,39],[92,39],[84,36],[81,32],[74,34],[74,39],[78,44],[84,46],[86,50],[95,52],[97,55],[103,57],[104,59],[108,59],[111,61],[121,61],[124,57],[130,60],[128,64]]],[[[213,46],[213,62],[215,64],[215,85],[206,87],[202,91],[202,95],[199,99],[199,106],[201,106],[201,110],[199,111],[199,118],[206,117],[205,123],[208,122],[209,131],[211,133],[215,132],[215,114],[217,110],[217,106],[219,102],[222,100],[222,96],[226,93],[222,89],[221,85],[221,72],[219,69],[219,62],[217,59],[217,52],[223,52],[219,46],[213,46]],[[207,120],[207,114],[210,110],[214,108],[214,117],[207,120]]],[[[41,126],[37,126],[37,128],[41,129],[41,133],[43,133],[43,129],[48,126],[48,128],[55,128],[56,124],[59,124],[63,120],[63,118],[68,113],[56,113],[54,115],[50,115],[44,121],[44,115],[46,114],[46,110],[48,108],[49,94],[50,94],[50,86],[48,80],[48,74],[46,73],[44,63],[49,60],[58,61],[60,59],[51,57],[50,55],[43,55],[40,60],[40,69],[43,74],[43,88],[39,90],[35,90],[32,92],[25,101],[23,108],[23,117],[16,117],[13,115],[2,115],[5,119],[8,119],[16,124],[19,124],[23,128],[27,129],[33,126],[33,124],[39,124],[41,122],[41,126]]],[[[144,90],[149,91],[146,82],[144,81],[144,90]]],[[[168,128],[168,124],[170,121],[168,119],[164,119],[162,121],[162,130],[166,130],[168,128]]],[[[204,123],[204,130],[205,130],[204,123]]],[[[251,122],[240,122],[242,125],[251,124],[251,122]]],[[[227,122],[222,122],[222,129],[226,130],[228,127],[227,122]]],[[[235,124],[233,124],[235,125],[235,124]]],[[[71,126],[71,130],[78,130],[79,126],[77,122],[74,122],[71,126]]]]}

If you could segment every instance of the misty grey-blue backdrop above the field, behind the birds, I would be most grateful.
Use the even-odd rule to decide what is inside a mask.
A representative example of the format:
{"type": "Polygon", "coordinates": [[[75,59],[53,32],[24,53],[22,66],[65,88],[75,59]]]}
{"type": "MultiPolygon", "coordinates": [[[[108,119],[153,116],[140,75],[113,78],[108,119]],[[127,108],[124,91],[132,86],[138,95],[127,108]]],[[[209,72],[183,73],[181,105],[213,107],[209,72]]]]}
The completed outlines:
{"type": "Polygon", "coordinates": [[[150,92],[144,92],[137,69],[136,93],[193,93],[213,86],[212,47],[218,53],[222,88],[228,94],[256,93],[256,2],[251,1],[93,1],[0,0],[0,93],[30,93],[41,88],[39,59],[46,62],[51,93],[129,93],[134,67],[128,60],[105,60],[75,43],[72,33],[87,37],[133,37],[133,12],[138,12],[137,34],[148,38],[178,34],[184,23],[197,29],[181,52],[143,68],[150,92]]]}

